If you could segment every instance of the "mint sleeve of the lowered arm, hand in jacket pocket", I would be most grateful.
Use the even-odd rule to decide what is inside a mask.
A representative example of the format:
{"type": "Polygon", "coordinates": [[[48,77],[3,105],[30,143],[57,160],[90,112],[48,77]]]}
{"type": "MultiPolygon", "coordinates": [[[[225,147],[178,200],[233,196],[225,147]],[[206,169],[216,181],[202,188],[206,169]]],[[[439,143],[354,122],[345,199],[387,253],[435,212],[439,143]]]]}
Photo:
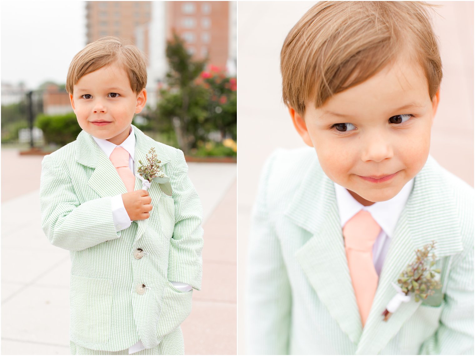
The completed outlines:
{"type": "Polygon", "coordinates": [[[198,193],[188,177],[185,156],[180,150],[176,151],[170,184],[175,205],[175,227],[170,239],[168,280],[187,283],[199,290],[203,274],[203,210],[198,193]]]}

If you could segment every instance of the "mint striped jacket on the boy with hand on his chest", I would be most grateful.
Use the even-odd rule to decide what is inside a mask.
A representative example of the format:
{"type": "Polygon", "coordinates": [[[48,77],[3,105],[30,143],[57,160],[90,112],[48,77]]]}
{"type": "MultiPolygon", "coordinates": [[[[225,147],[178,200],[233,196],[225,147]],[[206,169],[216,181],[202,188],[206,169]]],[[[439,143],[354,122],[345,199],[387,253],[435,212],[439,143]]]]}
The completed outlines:
{"type": "MultiPolygon", "coordinates": [[[[191,310],[192,291],[181,292],[170,281],[201,287],[202,208],[183,153],[136,127],[133,132],[134,161],[146,162],[154,147],[172,196],[152,182],[150,217],[122,231],[114,228],[111,197],[127,190],[91,135],[82,131],[42,162],[43,231],[53,245],[70,250],[72,262],[70,339],[95,350],[123,350],[139,337],[147,348],[158,345],[191,310]],[[136,249],[142,258],[134,257],[136,249]]],[[[182,345],[181,332],[173,335],[182,345]]]]}

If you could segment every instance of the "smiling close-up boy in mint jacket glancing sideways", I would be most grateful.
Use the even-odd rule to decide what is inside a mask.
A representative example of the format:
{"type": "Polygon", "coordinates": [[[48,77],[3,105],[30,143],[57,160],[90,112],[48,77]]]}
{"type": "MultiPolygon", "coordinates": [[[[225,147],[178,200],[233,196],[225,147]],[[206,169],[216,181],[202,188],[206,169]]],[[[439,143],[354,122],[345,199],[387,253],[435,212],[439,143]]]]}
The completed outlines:
{"type": "Polygon", "coordinates": [[[285,39],[284,101],[314,148],[277,151],[261,176],[249,354],[473,354],[473,189],[428,157],[442,77],[428,17],[322,1],[285,39]],[[441,289],[384,321],[430,241],[441,289]]]}

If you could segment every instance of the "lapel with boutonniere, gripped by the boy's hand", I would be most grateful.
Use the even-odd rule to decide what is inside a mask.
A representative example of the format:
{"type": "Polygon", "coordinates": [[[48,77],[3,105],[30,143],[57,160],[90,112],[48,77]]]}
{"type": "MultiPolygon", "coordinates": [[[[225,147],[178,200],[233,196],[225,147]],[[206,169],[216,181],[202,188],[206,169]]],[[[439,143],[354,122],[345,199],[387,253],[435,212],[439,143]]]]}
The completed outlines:
{"type": "MultiPolygon", "coordinates": [[[[170,158],[165,153],[161,144],[157,144],[156,141],[152,140],[150,137],[146,136],[142,133],[137,127],[133,126],[133,132],[135,134],[135,157],[133,158],[135,162],[135,172],[134,175],[137,174],[138,168],[140,166],[139,160],[142,161],[143,164],[147,162],[147,154],[150,149],[153,147],[155,149],[155,153],[157,154],[158,159],[161,161],[160,166],[163,166],[170,162],[170,158]]],[[[150,156],[150,154],[148,154],[150,156]]],[[[135,176],[135,187],[134,190],[142,189],[142,181],[135,176]]],[[[159,199],[163,195],[159,185],[152,181],[150,184],[150,188],[148,189],[149,196],[152,198],[152,206],[155,207],[159,204],[159,199]]],[[[150,213],[150,217],[154,213],[155,209],[152,209],[150,213]]],[[[137,233],[135,235],[135,242],[137,242],[145,232],[148,226],[148,221],[150,217],[145,220],[138,220],[137,221],[137,233]]]]}

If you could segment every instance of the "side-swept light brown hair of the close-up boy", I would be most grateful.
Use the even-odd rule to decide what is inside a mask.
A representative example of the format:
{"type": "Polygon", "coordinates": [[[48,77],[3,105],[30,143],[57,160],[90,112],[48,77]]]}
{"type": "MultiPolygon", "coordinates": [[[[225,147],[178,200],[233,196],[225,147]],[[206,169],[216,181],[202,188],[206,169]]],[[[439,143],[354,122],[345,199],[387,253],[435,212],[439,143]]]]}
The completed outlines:
{"type": "Polygon", "coordinates": [[[416,60],[433,98],[442,63],[427,8],[417,1],[320,1],[285,38],[282,94],[300,115],[356,86],[400,56],[416,60]]]}

